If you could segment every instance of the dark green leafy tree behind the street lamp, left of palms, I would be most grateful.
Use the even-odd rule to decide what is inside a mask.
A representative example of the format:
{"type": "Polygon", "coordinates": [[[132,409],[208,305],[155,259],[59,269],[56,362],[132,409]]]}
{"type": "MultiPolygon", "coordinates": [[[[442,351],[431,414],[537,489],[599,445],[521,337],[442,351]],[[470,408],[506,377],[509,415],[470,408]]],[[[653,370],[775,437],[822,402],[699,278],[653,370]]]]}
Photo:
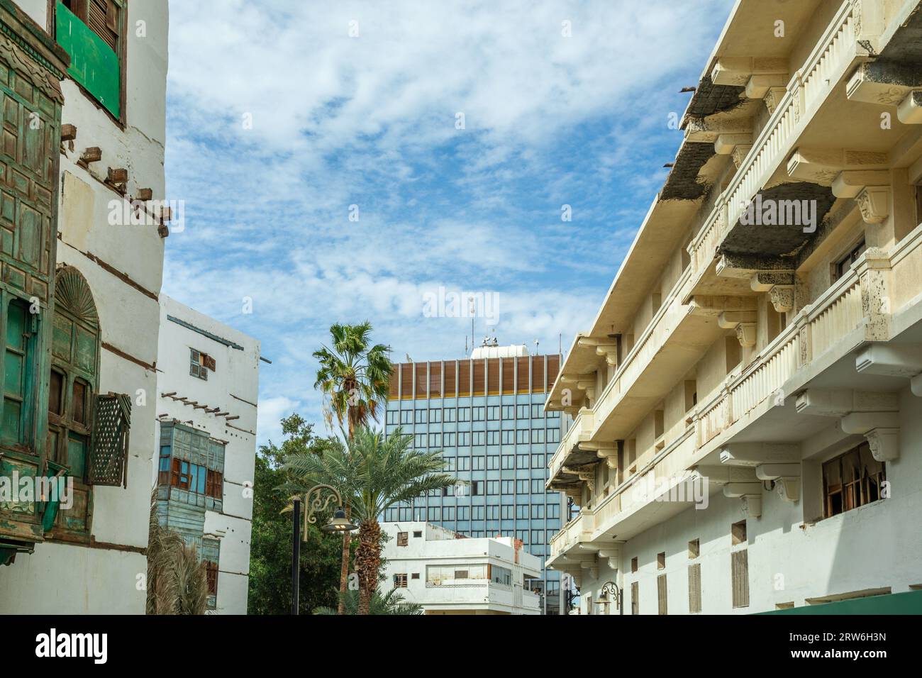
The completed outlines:
{"type": "MultiPolygon", "coordinates": [[[[297,414],[282,420],[286,439],[281,446],[261,446],[254,475],[253,536],[250,552],[250,614],[288,614],[291,609],[291,514],[286,489],[290,478],[282,470],[286,454],[322,454],[329,441],[313,435],[312,426],[297,414]]],[[[322,525],[320,520],[317,525],[322,525]]],[[[301,610],[337,604],[335,582],[342,545],[309,525],[301,543],[301,610]]]]}

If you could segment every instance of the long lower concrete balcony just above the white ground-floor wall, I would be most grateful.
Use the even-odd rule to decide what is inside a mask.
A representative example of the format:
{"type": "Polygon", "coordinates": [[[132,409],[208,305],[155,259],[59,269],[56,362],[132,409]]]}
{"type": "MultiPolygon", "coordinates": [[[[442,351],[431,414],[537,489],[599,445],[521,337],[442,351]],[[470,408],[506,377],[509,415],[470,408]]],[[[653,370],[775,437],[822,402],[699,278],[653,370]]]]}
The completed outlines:
{"type": "MultiPolygon", "coordinates": [[[[831,416],[846,433],[883,432],[875,456],[892,458],[893,395],[907,384],[922,396],[922,225],[889,253],[872,248],[859,257],[742,373],[703,399],[691,426],[555,535],[548,565],[568,572],[596,566],[586,553],[610,549],[717,492],[743,498],[758,517],[759,472],[770,474],[768,463],[789,464],[786,443],[818,434],[831,416]],[[868,392],[847,389],[855,384],[868,392]],[[761,444],[739,443],[743,431],[745,441],[774,445],[749,458],[761,444]]],[[[780,483],[792,501],[797,483],[794,475],[780,483]]]]}

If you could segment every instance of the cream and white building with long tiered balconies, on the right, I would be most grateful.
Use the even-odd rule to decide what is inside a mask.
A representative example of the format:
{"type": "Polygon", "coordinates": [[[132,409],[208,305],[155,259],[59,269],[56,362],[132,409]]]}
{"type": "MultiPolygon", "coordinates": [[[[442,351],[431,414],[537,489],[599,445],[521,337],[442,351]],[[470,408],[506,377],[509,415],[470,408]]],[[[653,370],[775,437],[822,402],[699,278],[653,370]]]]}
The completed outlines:
{"type": "Polygon", "coordinates": [[[922,609],[920,33],[734,5],[548,398],[582,613],[922,609]]]}

